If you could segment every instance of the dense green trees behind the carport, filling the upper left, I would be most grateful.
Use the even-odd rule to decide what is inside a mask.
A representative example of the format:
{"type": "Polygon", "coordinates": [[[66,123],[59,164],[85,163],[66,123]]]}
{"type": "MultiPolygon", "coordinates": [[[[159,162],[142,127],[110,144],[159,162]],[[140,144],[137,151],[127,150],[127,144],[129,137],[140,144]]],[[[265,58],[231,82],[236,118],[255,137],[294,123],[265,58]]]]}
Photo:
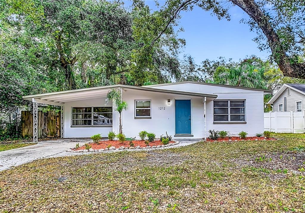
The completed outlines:
{"type": "Polygon", "coordinates": [[[95,0],[1,1],[1,110],[21,105],[22,95],[171,80],[185,41],[167,31],[146,54],[147,42],[136,30],[139,18],[150,15],[143,5],[127,10],[120,2],[95,0]]]}

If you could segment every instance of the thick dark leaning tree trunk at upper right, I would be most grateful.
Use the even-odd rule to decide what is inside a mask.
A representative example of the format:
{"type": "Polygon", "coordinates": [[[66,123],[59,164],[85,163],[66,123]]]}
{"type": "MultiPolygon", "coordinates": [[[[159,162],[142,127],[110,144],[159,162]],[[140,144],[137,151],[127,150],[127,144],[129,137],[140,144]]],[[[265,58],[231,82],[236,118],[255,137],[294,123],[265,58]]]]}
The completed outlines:
{"type": "Polygon", "coordinates": [[[253,19],[267,37],[272,55],[285,76],[305,79],[305,63],[290,63],[278,34],[273,29],[269,16],[265,15],[254,0],[231,0],[253,19]]]}

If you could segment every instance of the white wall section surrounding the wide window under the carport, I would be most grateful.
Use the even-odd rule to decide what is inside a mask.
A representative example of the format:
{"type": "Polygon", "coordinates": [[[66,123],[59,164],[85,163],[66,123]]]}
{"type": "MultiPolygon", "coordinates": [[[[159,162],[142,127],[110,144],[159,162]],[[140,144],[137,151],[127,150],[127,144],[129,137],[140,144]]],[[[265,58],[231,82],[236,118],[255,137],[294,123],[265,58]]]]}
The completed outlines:
{"type": "MultiPolygon", "coordinates": [[[[102,134],[102,137],[107,137],[109,131],[112,131],[112,127],[71,127],[71,107],[77,106],[105,106],[105,98],[66,102],[64,106],[64,137],[81,138],[91,137],[94,134],[102,134]]],[[[112,102],[110,101],[106,106],[112,106],[112,102]]]]}

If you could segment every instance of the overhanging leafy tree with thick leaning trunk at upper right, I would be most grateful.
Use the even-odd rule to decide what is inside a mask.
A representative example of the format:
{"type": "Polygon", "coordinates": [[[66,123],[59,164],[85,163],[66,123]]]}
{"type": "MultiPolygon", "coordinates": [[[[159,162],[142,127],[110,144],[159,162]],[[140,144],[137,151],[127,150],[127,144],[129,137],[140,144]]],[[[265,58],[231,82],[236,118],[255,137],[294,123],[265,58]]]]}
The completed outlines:
{"type": "MultiPolygon", "coordinates": [[[[289,0],[230,0],[249,15],[250,30],[257,30],[255,39],[261,49],[270,48],[272,59],[285,76],[305,79],[305,4],[304,1],[289,0]]],[[[210,11],[219,19],[230,19],[227,2],[221,0],[167,0],[155,14],[167,21],[162,23],[157,35],[151,40],[150,48],[166,32],[177,25],[181,11],[192,11],[194,6],[210,11]]]]}

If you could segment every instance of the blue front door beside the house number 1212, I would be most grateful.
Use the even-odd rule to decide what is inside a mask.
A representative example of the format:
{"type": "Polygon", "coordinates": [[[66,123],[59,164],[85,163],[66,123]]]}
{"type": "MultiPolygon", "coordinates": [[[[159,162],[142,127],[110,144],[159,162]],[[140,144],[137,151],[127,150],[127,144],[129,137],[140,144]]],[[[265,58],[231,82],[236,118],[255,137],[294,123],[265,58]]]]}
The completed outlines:
{"type": "Polygon", "coordinates": [[[191,134],[191,100],[175,100],[176,134],[191,134]]]}

